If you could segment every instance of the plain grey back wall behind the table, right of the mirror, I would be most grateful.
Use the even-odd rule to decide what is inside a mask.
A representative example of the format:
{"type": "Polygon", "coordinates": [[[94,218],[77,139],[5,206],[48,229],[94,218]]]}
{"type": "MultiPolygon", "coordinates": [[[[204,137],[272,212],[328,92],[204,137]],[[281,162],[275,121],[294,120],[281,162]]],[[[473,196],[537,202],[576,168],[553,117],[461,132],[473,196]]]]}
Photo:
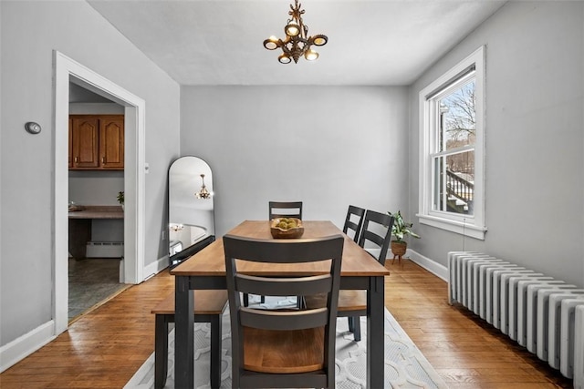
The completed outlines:
{"type": "Polygon", "coordinates": [[[182,87],[181,154],[213,170],[217,235],[269,200],[342,227],[349,204],[408,204],[404,87],[182,87]]]}

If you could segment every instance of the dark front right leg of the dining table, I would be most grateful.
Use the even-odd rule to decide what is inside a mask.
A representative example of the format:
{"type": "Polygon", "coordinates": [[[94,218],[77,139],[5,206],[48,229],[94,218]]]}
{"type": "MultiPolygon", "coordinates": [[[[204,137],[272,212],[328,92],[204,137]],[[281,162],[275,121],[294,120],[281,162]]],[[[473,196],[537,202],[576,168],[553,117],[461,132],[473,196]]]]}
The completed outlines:
{"type": "Polygon", "coordinates": [[[383,277],[370,277],[367,293],[367,387],[384,387],[385,342],[383,277]]]}

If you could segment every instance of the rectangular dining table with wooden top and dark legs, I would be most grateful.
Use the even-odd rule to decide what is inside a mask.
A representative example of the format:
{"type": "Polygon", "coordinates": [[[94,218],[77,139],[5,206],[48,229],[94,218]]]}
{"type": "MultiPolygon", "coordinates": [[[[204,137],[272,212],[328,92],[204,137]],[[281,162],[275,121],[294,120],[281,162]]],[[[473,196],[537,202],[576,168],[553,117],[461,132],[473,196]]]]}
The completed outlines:
{"type": "MultiPolygon", "coordinates": [[[[340,289],[367,291],[367,386],[384,386],[384,277],[390,275],[369,252],[343,234],[330,220],[302,220],[305,238],[344,236],[340,289]]],[[[254,239],[274,239],[270,220],[245,220],[230,235],[254,239]]],[[[327,269],[281,263],[260,264],[240,261],[238,270],[250,275],[295,277],[324,273],[327,269]]],[[[226,289],[223,239],[217,239],[202,251],[173,268],[175,277],[174,383],[176,388],[194,386],[193,290],[226,289]]]]}

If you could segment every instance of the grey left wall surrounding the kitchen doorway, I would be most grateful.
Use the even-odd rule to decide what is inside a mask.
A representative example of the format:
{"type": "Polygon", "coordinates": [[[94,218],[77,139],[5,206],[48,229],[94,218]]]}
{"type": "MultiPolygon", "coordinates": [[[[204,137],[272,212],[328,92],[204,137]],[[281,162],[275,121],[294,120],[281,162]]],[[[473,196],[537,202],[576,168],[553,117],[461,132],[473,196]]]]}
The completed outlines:
{"type": "Polygon", "coordinates": [[[168,252],[161,230],[166,229],[167,168],[179,151],[180,87],[85,1],[3,0],[0,10],[4,346],[52,319],[53,137],[67,130],[53,128],[53,51],[146,101],[146,265],[168,252]],[[42,132],[28,134],[27,121],[38,122],[42,132]]]}

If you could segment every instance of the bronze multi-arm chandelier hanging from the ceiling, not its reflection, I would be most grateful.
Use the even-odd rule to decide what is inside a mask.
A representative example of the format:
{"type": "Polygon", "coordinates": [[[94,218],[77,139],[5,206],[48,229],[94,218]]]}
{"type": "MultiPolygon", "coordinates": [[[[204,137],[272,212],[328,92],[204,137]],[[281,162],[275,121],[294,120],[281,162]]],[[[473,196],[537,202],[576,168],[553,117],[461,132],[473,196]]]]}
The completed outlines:
{"type": "Polygon", "coordinates": [[[300,56],[304,56],[308,61],[314,61],[318,58],[318,53],[311,46],[325,46],[328,42],[328,37],[321,34],[308,36],[308,26],[302,22],[302,14],[305,11],[300,9],[300,6],[298,0],[294,0],[294,6],[290,5],[291,11],[288,11],[290,18],[284,27],[286,40],[270,36],[264,41],[264,47],[268,50],[276,50],[278,47],[282,49],[283,53],[277,57],[281,64],[289,64],[292,59],[297,64],[300,56]]]}

